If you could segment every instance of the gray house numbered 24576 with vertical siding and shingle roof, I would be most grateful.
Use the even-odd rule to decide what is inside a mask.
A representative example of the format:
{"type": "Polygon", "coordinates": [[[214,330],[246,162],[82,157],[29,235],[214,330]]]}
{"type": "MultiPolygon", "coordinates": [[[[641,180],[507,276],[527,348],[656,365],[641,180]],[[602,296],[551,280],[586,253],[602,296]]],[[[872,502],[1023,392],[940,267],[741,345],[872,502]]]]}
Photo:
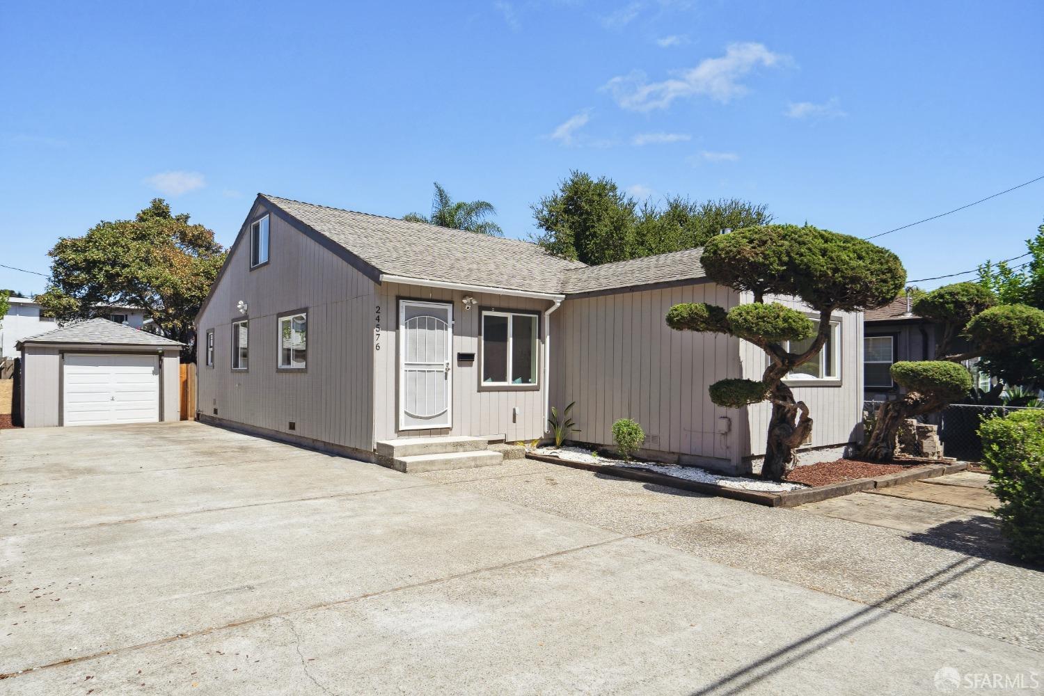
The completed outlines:
{"type": "MultiPolygon", "coordinates": [[[[407,469],[542,438],[549,406],[575,401],[578,441],[611,446],[613,422],[631,417],[644,456],[740,472],[763,455],[768,405],[721,408],[707,388],[760,379],[763,353],[664,321],[678,303],[752,302],[710,282],[699,257],[589,267],[259,194],[196,319],[198,417],[407,469]]],[[[836,457],[860,423],[862,315],[833,323],[790,381],[816,418],[807,462],[836,457]]]]}

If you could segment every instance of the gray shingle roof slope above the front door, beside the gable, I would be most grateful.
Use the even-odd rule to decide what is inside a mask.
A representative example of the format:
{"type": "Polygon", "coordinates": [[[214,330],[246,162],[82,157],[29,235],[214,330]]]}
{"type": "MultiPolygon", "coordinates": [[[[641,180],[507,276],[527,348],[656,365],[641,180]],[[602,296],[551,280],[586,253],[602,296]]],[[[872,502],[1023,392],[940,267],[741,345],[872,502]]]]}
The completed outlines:
{"type": "Polygon", "coordinates": [[[518,239],[261,195],[389,275],[557,292],[562,271],[584,265],[518,239]]]}

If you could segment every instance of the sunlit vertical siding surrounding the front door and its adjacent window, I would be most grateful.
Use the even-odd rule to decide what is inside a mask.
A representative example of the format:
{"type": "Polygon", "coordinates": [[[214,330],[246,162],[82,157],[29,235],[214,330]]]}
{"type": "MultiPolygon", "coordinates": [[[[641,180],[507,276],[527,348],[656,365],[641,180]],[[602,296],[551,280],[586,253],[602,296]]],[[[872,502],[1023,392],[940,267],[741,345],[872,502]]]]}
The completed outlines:
{"type": "MultiPolygon", "coordinates": [[[[502,310],[522,309],[543,312],[551,306],[546,299],[532,299],[512,295],[462,292],[397,283],[384,283],[377,288],[375,305],[381,308],[380,350],[373,345],[374,356],[374,439],[395,437],[421,437],[425,435],[503,435],[508,441],[537,439],[543,436],[543,373],[540,373],[541,390],[478,390],[479,345],[478,322],[480,308],[502,310]],[[472,295],[478,306],[465,311],[462,299],[472,295]],[[399,353],[398,301],[422,299],[453,303],[453,413],[452,428],[440,430],[409,430],[398,428],[399,353]],[[472,364],[458,363],[457,353],[474,353],[472,364]],[[512,409],[517,407],[517,418],[512,409]]],[[[560,308],[559,312],[562,311],[560,308]]],[[[553,314],[551,315],[554,316],[553,314]]],[[[543,360],[543,317],[541,326],[541,360],[543,360]]],[[[553,337],[552,337],[553,345],[553,337]]],[[[554,359],[552,358],[552,364],[554,359]]],[[[553,379],[552,379],[553,382],[553,379]]]]}

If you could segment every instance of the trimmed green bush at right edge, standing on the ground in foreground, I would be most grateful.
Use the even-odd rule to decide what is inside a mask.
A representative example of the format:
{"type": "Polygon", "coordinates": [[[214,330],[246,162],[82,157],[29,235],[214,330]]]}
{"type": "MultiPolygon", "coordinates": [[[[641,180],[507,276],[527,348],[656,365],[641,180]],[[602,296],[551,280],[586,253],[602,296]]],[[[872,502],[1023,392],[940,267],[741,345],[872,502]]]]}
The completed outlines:
{"type": "Polygon", "coordinates": [[[979,435],[1001,533],[1013,555],[1044,563],[1044,410],[987,418],[979,435]]]}

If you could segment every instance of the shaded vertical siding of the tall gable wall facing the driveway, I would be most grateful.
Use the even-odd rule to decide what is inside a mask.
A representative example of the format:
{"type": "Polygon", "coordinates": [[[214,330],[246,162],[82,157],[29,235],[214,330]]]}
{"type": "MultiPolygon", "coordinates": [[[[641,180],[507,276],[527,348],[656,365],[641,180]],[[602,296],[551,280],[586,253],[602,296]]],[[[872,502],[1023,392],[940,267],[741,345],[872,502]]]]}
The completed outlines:
{"type": "Polygon", "coordinates": [[[215,330],[214,366],[198,369],[199,411],[217,408],[226,421],[370,451],[375,285],[276,215],[269,238],[269,263],[253,271],[242,239],[198,319],[200,344],[215,330]],[[250,369],[232,371],[240,299],[248,305],[250,369]],[[298,309],[308,311],[307,369],[278,371],[277,317],[298,309]]]}

